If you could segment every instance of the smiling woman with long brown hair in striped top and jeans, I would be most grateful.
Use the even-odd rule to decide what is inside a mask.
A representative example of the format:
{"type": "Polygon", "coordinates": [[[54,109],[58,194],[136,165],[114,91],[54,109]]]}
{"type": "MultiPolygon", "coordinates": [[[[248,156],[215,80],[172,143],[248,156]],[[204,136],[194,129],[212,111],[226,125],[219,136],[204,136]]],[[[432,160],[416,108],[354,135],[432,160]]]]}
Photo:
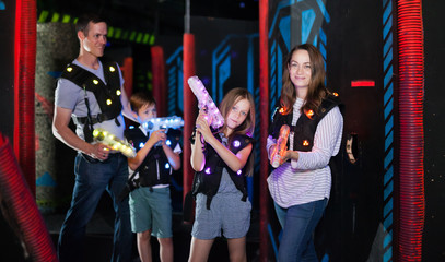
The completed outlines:
{"type": "Polygon", "coordinates": [[[282,162],[268,178],[283,228],[278,261],[318,261],[313,234],[327,205],[331,156],[340,148],[343,118],[339,100],[325,87],[325,64],[313,45],[294,47],[286,58],[281,108],[267,142],[269,159],[280,128],[291,127],[282,162]]]}

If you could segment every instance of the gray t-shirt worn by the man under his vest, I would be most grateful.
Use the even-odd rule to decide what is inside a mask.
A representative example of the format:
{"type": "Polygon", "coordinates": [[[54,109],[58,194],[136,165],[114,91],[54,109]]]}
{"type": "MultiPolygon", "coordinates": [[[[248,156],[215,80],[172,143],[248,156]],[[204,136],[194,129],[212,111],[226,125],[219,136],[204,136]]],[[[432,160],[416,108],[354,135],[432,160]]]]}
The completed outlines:
{"type": "MultiPolygon", "coordinates": [[[[94,70],[92,68],[87,68],[80,63],[77,59],[72,62],[90,72],[95,74],[97,78],[99,78],[104,83],[105,78],[104,78],[104,70],[102,62],[99,61],[99,68],[97,70],[94,70]]],[[[119,76],[120,76],[120,85],[124,85],[124,79],[122,74],[120,72],[119,67],[117,67],[119,76]]],[[[125,92],[125,91],[122,91],[125,92]]],[[[93,92],[86,91],[86,96],[90,102],[90,111],[91,116],[94,117],[97,114],[101,114],[101,108],[97,104],[96,97],[94,96],[93,92]]],[[[80,86],[75,85],[71,81],[67,79],[60,78],[57,82],[57,87],[56,87],[56,94],[55,94],[55,105],[58,107],[67,108],[72,110],[71,117],[86,117],[87,116],[87,109],[85,105],[85,91],[81,88],[80,86]]],[[[117,126],[115,120],[107,120],[101,123],[96,123],[93,126],[94,129],[96,128],[102,128],[104,130],[107,130],[108,132],[113,133],[116,135],[116,138],[124,140],[124,130],[125,130],[125,122],[124,122],[124,116],[120,114],[117,119],[119,120],[120,126],[117,126]]],[[[79,138],[85,139],[83,134],[83,124],[78,124],[75,128],[75,133],[78,134],[79,138]]]]}

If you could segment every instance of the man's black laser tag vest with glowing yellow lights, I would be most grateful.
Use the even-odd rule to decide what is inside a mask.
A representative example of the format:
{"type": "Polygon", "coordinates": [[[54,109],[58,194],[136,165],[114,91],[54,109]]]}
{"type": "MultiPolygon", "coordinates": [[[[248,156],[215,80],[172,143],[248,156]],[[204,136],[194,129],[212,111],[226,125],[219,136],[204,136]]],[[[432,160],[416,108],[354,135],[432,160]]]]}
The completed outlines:
{"type": "Polygon", "coordinates": [[[61,74],[61,78],[73,82],[80,88],[85,91],[87,116],[78,117],[77,121],[84,124],[83,131],[86,142],[91,142],[93,140],[92,127],[95,123],[115,119],[116,124],[120,126],[119,121],[117,120],[117,117],[122,110],[122,104],[120,103],[121,91],[118,64],[116,62],[103,62],[102,66],[106,84],[95,74],[74,63],[68,64],[61,74]],[[90,102],[86,97],[86,91],[93,92],[101,108],[101,114],[91,116],[90,102]]]}

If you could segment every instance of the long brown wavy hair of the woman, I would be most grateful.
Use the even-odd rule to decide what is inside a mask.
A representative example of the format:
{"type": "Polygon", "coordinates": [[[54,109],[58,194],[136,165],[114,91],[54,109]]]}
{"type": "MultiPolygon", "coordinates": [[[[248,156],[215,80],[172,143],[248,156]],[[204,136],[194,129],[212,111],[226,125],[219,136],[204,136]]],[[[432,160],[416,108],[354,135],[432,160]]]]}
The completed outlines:
{"type": "Polygon", "coordinates": [[[312,71],[306,99],[302,106],[302,112],[313,110],[317,114],[323,98],[325,98],[329,92],[325,87],[326,71],[321,52],[311,44],[295,46],[288,53],[285,69],[283,70],[283,86],[281,88],[280,104],[284,109],[283,114],[286,115],[292,111],[293,104],[296,100],[296,90],[289,75],[289,67],[293,53],[297,50],[306,50],[309,53],[312,71]]]}

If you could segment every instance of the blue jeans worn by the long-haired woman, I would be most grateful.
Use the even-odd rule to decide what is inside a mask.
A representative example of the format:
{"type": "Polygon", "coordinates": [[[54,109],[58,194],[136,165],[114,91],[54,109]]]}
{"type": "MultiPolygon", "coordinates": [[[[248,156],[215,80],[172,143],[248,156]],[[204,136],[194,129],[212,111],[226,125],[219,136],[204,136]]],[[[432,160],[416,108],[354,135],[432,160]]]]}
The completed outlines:
{"type": "Polygon", "coordinates": [[[283,235],[278,261],[318,261],[314,247],[314,230],[323,216],[328,200],[319,200],[282,209],[274,203],[283,235]]]}

